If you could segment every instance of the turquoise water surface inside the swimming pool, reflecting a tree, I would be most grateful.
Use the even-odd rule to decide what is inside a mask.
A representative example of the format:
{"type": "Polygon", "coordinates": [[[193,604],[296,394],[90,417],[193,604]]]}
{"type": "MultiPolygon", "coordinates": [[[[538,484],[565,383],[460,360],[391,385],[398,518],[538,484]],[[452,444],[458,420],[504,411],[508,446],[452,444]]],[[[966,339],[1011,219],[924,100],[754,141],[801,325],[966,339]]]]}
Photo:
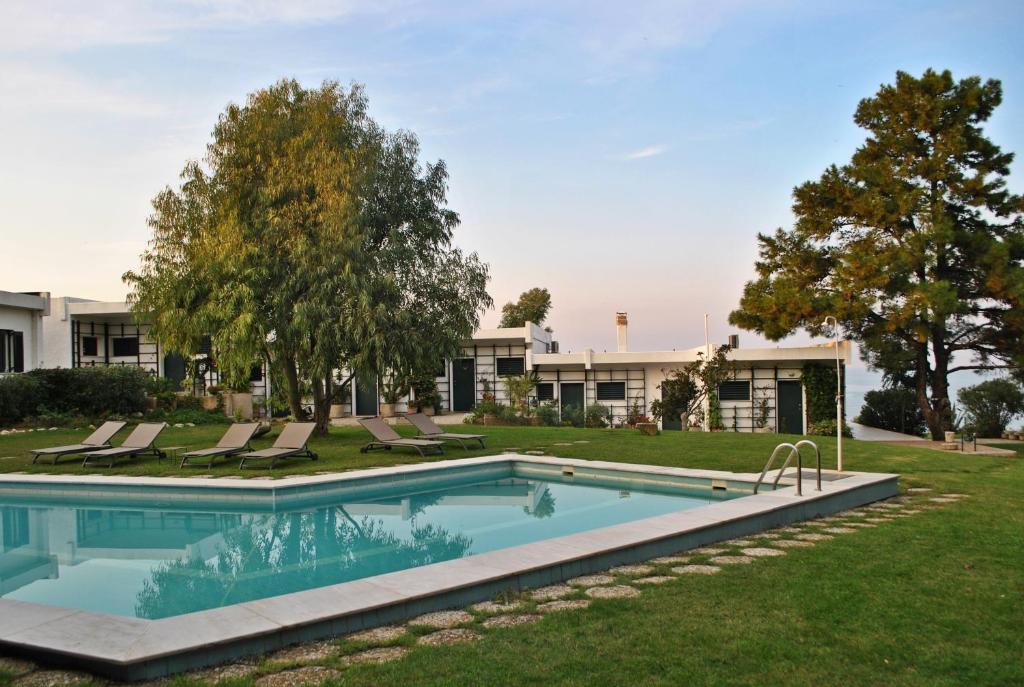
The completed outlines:
{"type": "MultiPolygon", "coordinates": [[[[160,618],[703,506],[511,477],[284,512],[0,501],[0,596],[160,618]]],[[[111,502],[116,503],[116,502],[111,502]]]]}

